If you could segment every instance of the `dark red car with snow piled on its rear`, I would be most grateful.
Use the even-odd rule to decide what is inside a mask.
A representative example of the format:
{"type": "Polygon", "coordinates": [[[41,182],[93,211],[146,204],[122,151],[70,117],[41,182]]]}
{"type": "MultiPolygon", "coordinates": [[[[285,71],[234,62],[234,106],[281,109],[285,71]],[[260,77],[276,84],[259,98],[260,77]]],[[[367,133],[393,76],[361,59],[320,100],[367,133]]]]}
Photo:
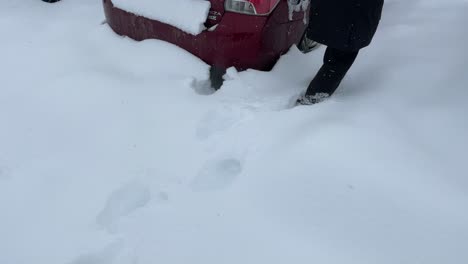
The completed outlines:
{"type": "Polygon", "coordinates": [[[107,23],[116,33],[135,40],[160,39],[186,49],[213,66],[215,79],[232,66],[270,70],[281,54],[301,42],[307,26],[308,0],[207,1],[211,1],[208,30],[194,36],[103,0],[107,23]],[[303,9],[291,10],[304,1],[303,9]]]}

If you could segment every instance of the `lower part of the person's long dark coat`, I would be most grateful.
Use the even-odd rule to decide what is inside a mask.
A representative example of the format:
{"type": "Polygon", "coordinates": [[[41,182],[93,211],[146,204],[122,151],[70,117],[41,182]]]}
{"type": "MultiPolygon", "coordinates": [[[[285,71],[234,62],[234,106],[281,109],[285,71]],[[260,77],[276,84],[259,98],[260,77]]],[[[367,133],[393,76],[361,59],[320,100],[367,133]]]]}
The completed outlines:
{"type": "Polygon", "coordinates": [[[368,46],[384,0],[311,0],[307,35],[326,46],[357,51],[368,46]]]}

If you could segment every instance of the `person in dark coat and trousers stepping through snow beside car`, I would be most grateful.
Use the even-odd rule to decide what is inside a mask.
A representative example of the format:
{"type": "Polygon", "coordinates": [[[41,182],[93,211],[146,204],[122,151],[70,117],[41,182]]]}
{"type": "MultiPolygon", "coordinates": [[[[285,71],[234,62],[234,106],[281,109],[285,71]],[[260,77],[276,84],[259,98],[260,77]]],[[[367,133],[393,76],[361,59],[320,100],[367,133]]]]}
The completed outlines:
{"type": "Polygon", "coordinates": [[[311,105],[331,96],[368,46],[380,22],[384,0],[311,0],[305,37],[327,46],[320,68],[297,103],[311,105]]]}

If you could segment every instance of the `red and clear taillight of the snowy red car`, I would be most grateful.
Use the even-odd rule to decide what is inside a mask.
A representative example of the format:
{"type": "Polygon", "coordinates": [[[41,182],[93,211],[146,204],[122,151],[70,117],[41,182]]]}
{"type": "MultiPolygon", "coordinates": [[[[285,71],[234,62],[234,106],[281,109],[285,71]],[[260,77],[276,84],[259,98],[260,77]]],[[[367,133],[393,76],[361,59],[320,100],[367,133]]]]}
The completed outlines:
{"type": "Polygon", "coordinates": [[[226,11],[248,14],[268,15],[275,9],[280,0],[226,0],[226,11]]]}

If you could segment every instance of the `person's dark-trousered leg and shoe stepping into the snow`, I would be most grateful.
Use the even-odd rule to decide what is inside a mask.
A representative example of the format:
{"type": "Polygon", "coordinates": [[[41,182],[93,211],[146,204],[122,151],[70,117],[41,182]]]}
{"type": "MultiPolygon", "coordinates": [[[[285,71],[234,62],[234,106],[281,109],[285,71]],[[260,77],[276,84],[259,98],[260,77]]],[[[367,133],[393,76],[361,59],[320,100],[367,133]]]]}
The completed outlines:
{"type": "Polygon", "coordinates": [[[332,95],[353,65],[358,53],[359,51],[342,51],[328,47],[325,51],[323,66],[310,82],[305,96],[298,103],[314,104],[332,95]]]}

